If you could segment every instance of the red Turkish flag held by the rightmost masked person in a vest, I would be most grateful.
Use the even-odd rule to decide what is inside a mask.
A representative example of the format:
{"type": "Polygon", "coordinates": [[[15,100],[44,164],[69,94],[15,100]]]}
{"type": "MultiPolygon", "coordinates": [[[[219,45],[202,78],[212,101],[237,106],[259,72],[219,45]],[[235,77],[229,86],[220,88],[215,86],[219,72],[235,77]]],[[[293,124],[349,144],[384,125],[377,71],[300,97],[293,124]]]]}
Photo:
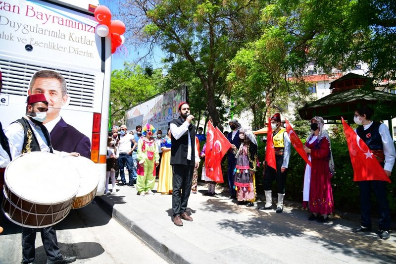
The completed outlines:
{"type": "Polygon", "coordinates": [[[345,137],[353,167],[353,181],[387,181],[391,179],[385,174],[380,162],[367,147],[366,143],[353,131],[342,118],[345,137]]]}

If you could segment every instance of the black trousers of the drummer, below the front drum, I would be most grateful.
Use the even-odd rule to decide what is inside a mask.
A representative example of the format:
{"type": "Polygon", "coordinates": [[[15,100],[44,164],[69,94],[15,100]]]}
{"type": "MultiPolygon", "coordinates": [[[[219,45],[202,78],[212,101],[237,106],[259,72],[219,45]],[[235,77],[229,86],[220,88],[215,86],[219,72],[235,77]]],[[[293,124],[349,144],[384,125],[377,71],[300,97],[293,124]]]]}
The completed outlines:
{"type": "Polygon", "coordinates": [[[34,262],[34,242],[36,240],[36,233],[39,230],[47,258],[50,261],[54,261],[62,256],[58,247],[58,240],[56,238],[56,230],[54,225],[44,228],[22,227],[22,263],[34,262]]]}

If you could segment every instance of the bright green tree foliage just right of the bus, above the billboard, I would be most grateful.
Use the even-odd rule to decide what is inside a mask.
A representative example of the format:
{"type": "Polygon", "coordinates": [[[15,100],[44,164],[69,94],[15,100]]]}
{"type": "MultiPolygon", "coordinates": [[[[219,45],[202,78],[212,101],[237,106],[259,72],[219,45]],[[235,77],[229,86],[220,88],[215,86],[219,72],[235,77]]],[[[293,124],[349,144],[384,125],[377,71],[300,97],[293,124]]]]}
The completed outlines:
{"type": "Polygon", "coordinates": [[[150,67],[142,68],[139,65],[125,63],[124,70],[111,72],[110,101],[111,119],[115,123],[125,122],[127,110],[140,102],[144,102],[158,94],[163,85],[164,78],[160,70],[151,70],[150,67]]]}

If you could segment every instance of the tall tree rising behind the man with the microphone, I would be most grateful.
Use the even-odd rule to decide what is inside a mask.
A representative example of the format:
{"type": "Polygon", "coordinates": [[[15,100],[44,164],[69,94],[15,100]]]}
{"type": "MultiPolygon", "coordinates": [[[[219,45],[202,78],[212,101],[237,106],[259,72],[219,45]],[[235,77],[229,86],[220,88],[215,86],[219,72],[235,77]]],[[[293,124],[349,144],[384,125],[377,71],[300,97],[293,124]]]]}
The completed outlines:
{"type": "Polygon", "coordinates": [[[175,62],[187,61],[205,92],[208,112],[219,125],[216,95],[225,90],[227,60],[255,38],[258,1],[128,0],[120,5],[120,15],[129,25],[128,41],[148,43],[150,50],[160,45],[175,62]]]}

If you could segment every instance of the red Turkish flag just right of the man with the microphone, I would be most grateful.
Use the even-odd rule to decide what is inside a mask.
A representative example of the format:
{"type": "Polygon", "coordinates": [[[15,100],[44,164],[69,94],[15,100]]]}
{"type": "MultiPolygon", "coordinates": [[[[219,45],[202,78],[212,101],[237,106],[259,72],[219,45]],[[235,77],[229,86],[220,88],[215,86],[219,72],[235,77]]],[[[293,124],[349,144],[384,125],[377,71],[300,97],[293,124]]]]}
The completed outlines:
{"type": "Polygon", "coordinates": [[[221,159],[231,148],[231,143],[221,131],[209,121],[208,134],[205,150],[205,172],[206,176],[215,182],[222,183],[223,172],[221,171],[221,159]],[[208,144],[209,142],[209,144],[208,144]]]}

